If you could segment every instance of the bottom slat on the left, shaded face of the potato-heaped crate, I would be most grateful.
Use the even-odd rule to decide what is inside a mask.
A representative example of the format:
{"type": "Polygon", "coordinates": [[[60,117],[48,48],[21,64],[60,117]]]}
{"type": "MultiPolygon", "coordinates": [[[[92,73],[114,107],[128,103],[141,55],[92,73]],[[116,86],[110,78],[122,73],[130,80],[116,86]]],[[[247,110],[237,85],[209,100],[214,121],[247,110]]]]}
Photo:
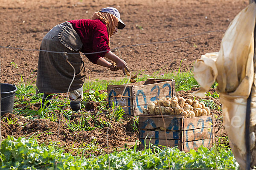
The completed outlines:
{"type": "Polygon", "coordinates": [[[160,145],[160,146],[167,146],[167,147],[175,147],[177,146],[178,149],[182,149],[182,144],[180,140],[166,140],[166,139],[143,139],[140,138],[140,148],[145,147],[145,143],[147,147],[149,146],[149,142],[154,145],[160,145]]]}

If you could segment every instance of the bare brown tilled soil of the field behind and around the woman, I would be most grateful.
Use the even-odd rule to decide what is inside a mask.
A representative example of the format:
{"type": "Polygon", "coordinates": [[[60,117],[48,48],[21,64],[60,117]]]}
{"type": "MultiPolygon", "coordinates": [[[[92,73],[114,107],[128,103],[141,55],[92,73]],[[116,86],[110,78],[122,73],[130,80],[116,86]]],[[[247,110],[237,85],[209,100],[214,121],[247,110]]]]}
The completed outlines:
{"type": "MultiPolygon", "coordinates": [[[[0,0],[0,46],[39,49],[41,40],[47,32],[67,20],[90,19],[95,11],[111,6],[119,9],[122,20],[126,23],[123,30],[111,37],[111,49],[124,59],[133,73],[152,75],[193,68],[195,59],[202,54],[218,51],[224,30],[249,0],[0,0]],[[215,31],[209,32],[207,31],[215,31]],[[201,34],[204,33],[204,34],[201,34]],[[169,41],[168,43],[154,43],[169,41]],[[142,45],[141,45],[142,44],[142,45]],[[123,47],[125,46],[125,47],[123,47]]],[[[18,83],[36,77],[38,51],[24,51],[0,48],[0,80],[5,83],[18,83]]],[[[84,57],[87,79],[119,79],[122,71],[112,72],[94,65],[84,57]]],[[[193,89],[192,89],[193,90],[193,89]]],[[[195,89],[194,89],[195,90],[195,89]]],[[[212,89],[211,92],[213,92],[212,89]]],[[[192,91],[181,91],[177,95],[186,96],[192,91]]],[[[214,100],[221,106],[218,100],[214,100]]],[[[38,105],[31,106],[38,109],[38,105]]],[[[220,118],[219,111],[212,110],[220,118]]],[[[2,123],[2,135],[37,137],[39,142],[57,140],[58,123],[45,119],[35,121],[20,116],[21,123],[7,125],[2,123]],[[51,129],[49,129],[51,127],[51,129]],[[45,133],[45,130],[49,130],[45,133]]],[[[75,116],[76,117],[76,116],[75,116]]],[[[79,116],[78,116],[79,117],[79,116]]],[[[104,117],[102,117],[103,119],[104,117]]],[[[75,118],[76,119],[76,118],[75,118]]],[[[131,129],[131,117],[120,123],[113,123],[108,133],[110,148],[123,147],[125,143],[138,139],[138,133],[131,129]]],[[[221,119],[216,123],[216,136],[226,136],[221,119]]],[[[106,149],[108,128],[86,132],[71,133],[61,127],[58,140],[62,146],[79,147],[90,143],[91,136],[106,149]]],[[[67,150],[68,152],[68,150],[67,150]]]]}

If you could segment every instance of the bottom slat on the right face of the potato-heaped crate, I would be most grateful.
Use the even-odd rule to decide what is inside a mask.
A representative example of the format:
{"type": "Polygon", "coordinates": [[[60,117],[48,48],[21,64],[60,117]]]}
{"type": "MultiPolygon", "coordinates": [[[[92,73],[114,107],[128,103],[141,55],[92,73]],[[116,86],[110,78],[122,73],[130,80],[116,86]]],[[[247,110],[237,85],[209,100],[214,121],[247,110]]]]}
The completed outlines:
{"type": "Polygon", "coordinates": [[[190,141],[190,142],[183,142],[182,150],[185,152],[189,152],[190,149],[198,150],[198,147],[200,147],[201,145],[203,145],[204,147],[207,147],[209,149],[212,147],[213,143],[214,143],[214,138],[202,139],[202,140],[190,141]]]}

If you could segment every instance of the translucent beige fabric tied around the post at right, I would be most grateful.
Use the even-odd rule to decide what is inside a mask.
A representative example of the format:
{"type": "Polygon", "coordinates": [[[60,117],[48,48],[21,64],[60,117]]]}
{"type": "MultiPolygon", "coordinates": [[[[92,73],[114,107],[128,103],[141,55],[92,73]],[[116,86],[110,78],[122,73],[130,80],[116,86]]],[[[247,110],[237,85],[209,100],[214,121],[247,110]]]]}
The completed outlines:
{"type": "MultiPolygon", "coordinates": [[[[194,95],[204,97],[211,85],[218,82],[225,130],[231,150],[245,168],[245,113],[246,101],[253,87],[250,126],[256,125],[256,74],[253,65],[256,4],[244,8],[230,23],[221,41],[219,52],[209,53],[197,59],[194,65],[195,79],[201,90],[194,95]]],[[[255,134],[250,133],[251,149],[255,134]]],[[[256,162],[253,162],[256,165],[256,162]]]]}

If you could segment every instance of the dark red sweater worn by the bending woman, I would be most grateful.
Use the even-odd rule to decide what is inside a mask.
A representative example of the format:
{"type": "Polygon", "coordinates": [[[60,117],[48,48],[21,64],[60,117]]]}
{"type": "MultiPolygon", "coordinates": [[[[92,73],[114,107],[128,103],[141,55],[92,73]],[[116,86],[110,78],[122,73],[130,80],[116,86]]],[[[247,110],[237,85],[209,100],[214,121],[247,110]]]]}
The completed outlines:
{"type": "MultiPolygon", "coordinates": [[[[81,42],[83,43],[81,52],[91,53],[98,51],[110,51],[108,46],[108,31],[107,27],[100,20],[71,20],[69,21],[81,42]]],[[[86,57],[96,64],[100,57],[104,57],[106,52],[97,54],[86,54],[86,57]]]]}

